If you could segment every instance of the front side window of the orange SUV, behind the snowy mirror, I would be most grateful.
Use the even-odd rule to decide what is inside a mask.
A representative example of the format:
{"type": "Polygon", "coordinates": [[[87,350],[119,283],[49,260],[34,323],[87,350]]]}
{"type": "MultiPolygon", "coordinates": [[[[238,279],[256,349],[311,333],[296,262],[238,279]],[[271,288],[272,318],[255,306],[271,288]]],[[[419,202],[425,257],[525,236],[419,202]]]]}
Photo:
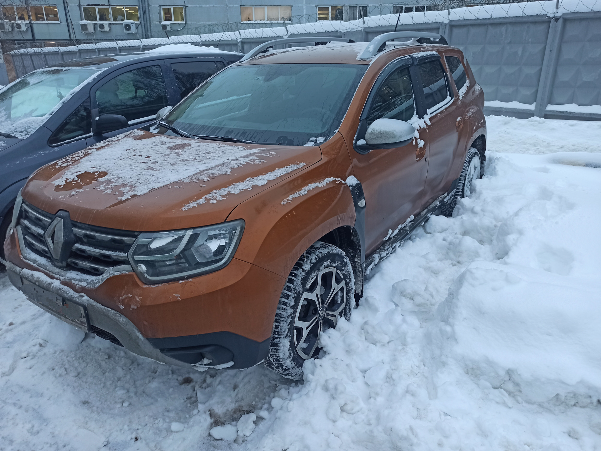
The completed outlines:
{"type": "Polygon", "coordinates": [[[415,106],[409,67],[398,68],[386,78],[378,89],[367,115],[367,126],[381,118],[408,121],[414,114],[415,106]]]}

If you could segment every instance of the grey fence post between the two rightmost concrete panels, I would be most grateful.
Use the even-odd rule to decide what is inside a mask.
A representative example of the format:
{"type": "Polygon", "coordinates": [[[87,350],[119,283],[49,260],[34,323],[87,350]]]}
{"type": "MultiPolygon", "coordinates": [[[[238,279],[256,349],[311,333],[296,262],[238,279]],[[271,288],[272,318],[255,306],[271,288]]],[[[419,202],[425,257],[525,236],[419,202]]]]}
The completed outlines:
{"type": "Polygon", "coordinates": [[[543,67],[540,71],[540,81],[538,82],[536,105],[534,107],[534,115],[539,118],[545,117],[545,110],[551,98],[551,89],[553,88],[557,59],[561,47],[563,25],[563,17],[553,17],[549,24],[549,35],[547,37],[547,46],[545,47],[543,67]]]}

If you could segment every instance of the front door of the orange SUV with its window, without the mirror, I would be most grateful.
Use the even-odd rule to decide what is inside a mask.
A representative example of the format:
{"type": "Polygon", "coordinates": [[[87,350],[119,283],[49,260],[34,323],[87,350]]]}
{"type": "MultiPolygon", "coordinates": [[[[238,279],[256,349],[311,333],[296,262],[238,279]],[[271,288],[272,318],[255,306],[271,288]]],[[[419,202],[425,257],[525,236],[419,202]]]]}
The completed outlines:
{"type": "MultiPolygon", "coordinates": [[[[391,118],[409,121],[415,115],[411,58],[388,65],[374,83],[361,114],[356,141],[364,138],[373,121],[391,118]]],[[[356,142],[355,141],[355,142],[356,142]]],[[[427,131],[419,140],[403,147],[377,149],[362,154],[356,145],[350,150],[353,169],[365,194],[365,253],[371,253],[388,239],[399,225],[421,211],[426,184],[427,131]]]]}

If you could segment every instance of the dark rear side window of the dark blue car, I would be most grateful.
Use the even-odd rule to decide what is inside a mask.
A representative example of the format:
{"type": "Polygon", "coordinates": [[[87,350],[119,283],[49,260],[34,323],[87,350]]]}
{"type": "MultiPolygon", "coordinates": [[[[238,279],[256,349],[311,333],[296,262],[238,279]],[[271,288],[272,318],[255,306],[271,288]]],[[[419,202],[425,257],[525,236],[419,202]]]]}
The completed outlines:
{"type": "Polygon", "coordinates": [[[204,80],[225,67],[221,58],[178,58],[167,59],[168,77],[182,100],[204,80]]]}

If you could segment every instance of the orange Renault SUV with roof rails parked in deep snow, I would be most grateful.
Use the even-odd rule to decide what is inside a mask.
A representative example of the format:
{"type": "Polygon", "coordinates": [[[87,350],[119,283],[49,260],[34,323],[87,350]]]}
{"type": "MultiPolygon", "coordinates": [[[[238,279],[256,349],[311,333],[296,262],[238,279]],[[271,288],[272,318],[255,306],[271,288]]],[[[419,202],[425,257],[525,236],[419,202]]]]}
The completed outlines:
{"type": "Polygon", "coordinates": [[[315,40],[263,44],[153,126],[35,172],[4,243],[11,282],[159,362],[301,378],[486,150],[484,94],[440,35],[273,49],[315,40]]]}

